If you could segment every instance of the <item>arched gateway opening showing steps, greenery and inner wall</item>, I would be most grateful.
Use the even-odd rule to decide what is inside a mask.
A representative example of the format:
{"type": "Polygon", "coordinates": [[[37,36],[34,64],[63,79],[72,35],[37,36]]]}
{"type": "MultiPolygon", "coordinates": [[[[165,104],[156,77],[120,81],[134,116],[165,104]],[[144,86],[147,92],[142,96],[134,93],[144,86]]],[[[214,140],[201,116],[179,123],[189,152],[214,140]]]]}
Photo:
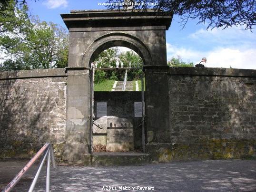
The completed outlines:
{"type": "Polygon", "coordinates": [[[93,154],[145,151],[143,61],[131,49],[126,52],[127,48],[119,48],[106,49],[92,60],[91,114],[95,115],[90,122],[90,145],[93,154]]]}

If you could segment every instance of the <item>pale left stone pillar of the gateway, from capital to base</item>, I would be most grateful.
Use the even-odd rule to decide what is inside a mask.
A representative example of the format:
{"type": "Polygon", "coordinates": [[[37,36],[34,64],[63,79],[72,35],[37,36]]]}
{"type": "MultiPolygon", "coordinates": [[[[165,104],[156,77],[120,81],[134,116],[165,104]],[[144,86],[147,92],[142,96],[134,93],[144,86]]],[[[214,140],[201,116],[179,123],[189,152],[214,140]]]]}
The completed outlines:
{"type": "Polygon", "coordinates": [[[70,162],[79,161],[89,153],[89,73],[84,67],[67,67],[67,116],[64,157],[70,162]],[[71,155],[69,151],[71,149],[71,155]],[[81,155],[82,154],[82,155],[81,155]]]}

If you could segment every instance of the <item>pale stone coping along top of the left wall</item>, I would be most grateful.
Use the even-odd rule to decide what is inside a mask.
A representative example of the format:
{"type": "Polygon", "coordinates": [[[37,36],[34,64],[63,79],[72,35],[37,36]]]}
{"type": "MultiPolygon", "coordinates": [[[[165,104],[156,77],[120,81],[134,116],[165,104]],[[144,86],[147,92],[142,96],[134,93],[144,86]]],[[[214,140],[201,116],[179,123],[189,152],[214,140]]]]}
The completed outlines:
{"type": "Polygon", "coordinates": [[[68,74],[66,73],[65,68],[33,69],[33,70],[0,72],[0,79],[66,77],[66,76],[68,76],[68,74]]]}

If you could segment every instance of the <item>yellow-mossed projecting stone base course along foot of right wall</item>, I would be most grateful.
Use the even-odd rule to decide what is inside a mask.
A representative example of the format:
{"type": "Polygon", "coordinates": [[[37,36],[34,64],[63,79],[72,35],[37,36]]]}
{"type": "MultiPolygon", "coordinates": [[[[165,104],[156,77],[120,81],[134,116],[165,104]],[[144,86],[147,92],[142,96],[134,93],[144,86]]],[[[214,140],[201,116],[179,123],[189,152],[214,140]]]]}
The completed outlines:
{"type": "Polygon", "coordinates": [[[147,144],[146,153],[151,163],[168,163],[173,160],[247,158],[256,155],[255,147],[255,141],[147,144]]]}

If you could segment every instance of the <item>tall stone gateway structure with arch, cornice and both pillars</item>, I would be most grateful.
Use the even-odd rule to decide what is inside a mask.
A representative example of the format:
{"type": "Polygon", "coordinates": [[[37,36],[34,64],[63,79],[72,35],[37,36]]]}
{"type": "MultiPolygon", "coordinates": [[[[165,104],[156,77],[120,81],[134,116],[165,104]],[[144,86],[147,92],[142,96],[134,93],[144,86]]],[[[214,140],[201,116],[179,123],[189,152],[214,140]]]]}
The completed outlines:
{"type": "Polygon", "coordinates": [[[166,77],[155,78],[150,67],[167,66],[165,31],[172,17],[157,16],[154,11],[124,10],[74,10],[61,17],[69,29],[70,39],[64,159],[85,164],[92,162],[90,122],[93,116],[93,68],[90,65],[100,52],[115,46],[130,48],[143,59],[146,86],[149,85],[145,99],[146,142],[164,142],[166,136],[162,135],[168,130],[168,114],[160,115],[163,108],[158,107],[157,100],[163,103],[166,100],[168,113],[167,93],[156,94],[153,87],[166,81],[166,77]]]}

